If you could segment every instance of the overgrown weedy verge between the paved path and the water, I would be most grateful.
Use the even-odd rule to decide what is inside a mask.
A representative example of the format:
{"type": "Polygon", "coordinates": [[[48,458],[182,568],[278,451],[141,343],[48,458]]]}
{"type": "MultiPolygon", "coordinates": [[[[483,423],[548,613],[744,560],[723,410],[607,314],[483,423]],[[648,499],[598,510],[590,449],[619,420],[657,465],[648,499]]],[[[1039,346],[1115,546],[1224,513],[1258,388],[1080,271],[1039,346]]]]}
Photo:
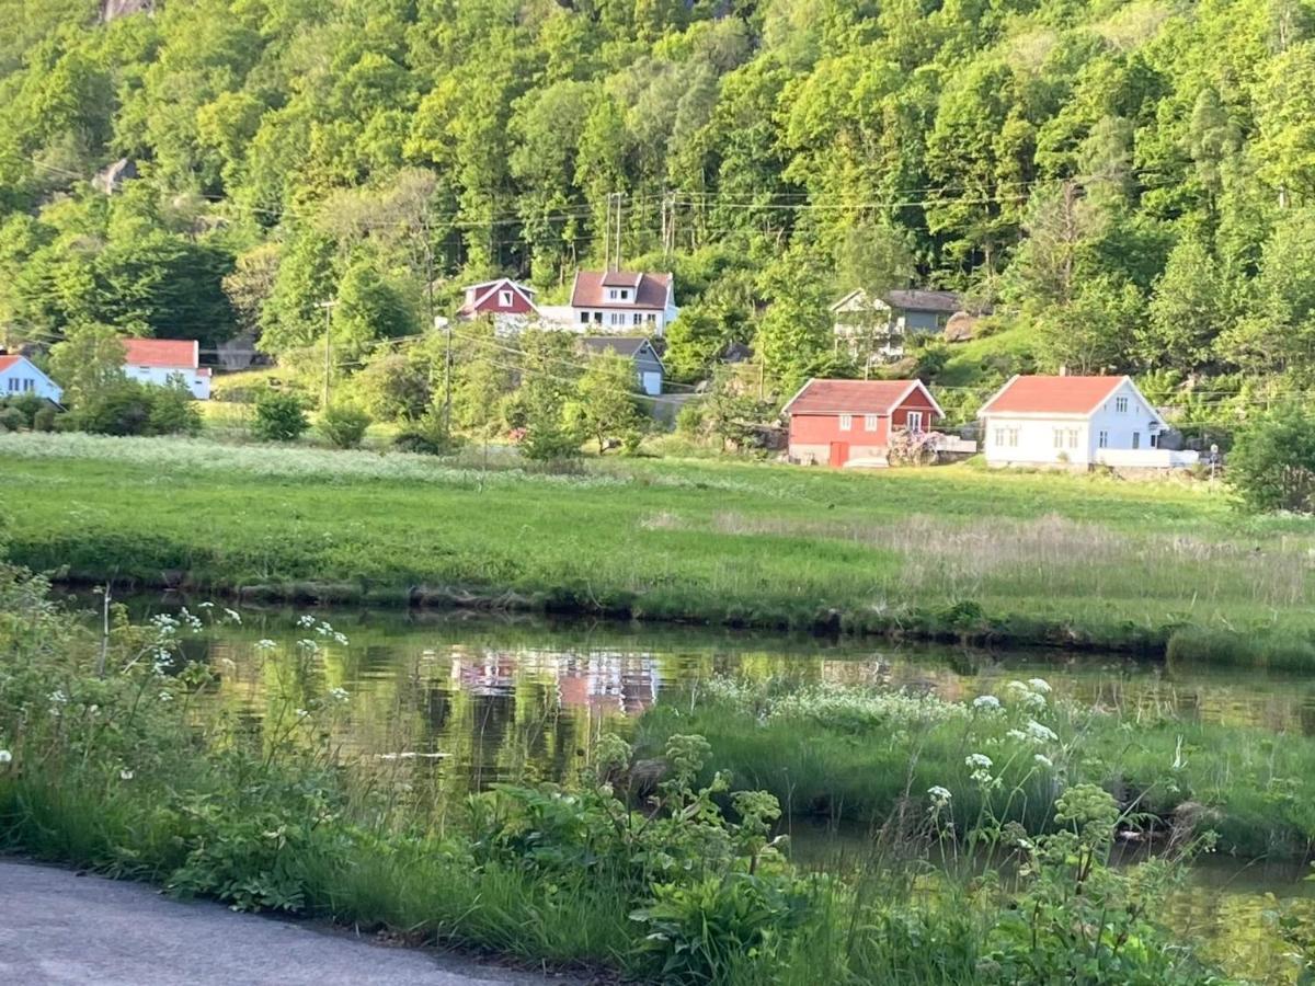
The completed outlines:
{"type": "MultiPolygon", "coordinates": [[[[304,626],[302,680],[337,635],[304,626]]],[[[225,715],[216,669],[179,665],[191,630],[117,613],[97,639],[0,565],[0,849],[651,982],[1218,982],[1155,922],[1176,868],[1110,868],[1118,811],[1097,789],[1056,799],[1053,836],[984,814],[973,831],[1027,862],[1007,880],[930,870],[955,835],[936,811],[863,872],[821,877],[778,851],[775,798],[697,784],[698,736],[669,738],[643,810],[615,738],[569,786],[454,805],[433,761],[358,763],[326,739],[341,690],[295,690],[262,726],[225,715]]]]}

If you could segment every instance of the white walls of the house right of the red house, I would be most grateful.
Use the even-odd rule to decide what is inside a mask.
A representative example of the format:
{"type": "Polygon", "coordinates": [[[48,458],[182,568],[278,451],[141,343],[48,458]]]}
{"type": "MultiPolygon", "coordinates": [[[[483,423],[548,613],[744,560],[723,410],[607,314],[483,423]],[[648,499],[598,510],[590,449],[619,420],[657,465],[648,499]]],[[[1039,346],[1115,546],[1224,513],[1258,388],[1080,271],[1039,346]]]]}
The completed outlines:
{"type": "MultiPolygon", "coordinates": [[[[1105,452],[1156,450],[1164,430],[1160,415],[1128,381],[1089,415],[984,414],[982,426],[989,465],[1090,465],[1110,458],[1105,452]]],[[[1141,458],[1153,468],[1152,460],[1162,456],[1141,458]]]]}

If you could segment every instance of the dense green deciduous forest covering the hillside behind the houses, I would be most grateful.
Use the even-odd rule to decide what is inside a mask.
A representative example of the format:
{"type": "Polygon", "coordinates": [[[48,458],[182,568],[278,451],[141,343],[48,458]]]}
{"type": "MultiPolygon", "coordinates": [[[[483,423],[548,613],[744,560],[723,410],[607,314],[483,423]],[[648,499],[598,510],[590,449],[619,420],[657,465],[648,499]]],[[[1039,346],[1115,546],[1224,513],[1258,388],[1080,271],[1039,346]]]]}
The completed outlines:
{"type": "Polygon", "coordinates": [[[1214,413],[1315,388],[1301,0],[0,0],[0,17],[11,346],[109,325],[292,359],[334,300],[335,342],[366,359],[492,273],[560,298],[611,230],[627,267],[676,273],[677,379],[731,340],[782,387],[843,372],[827,304],[919,284],[994,310],[981,338],[917,355],[949,389],[1116,369],[1214,413]]]}

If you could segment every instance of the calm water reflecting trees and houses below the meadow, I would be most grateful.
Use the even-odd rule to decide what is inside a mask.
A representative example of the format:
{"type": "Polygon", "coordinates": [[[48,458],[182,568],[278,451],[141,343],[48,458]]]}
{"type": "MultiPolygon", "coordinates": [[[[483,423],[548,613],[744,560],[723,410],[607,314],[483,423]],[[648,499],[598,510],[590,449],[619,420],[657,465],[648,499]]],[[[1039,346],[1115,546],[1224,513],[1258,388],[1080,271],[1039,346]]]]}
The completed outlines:
{"type": "MultiPolygon", "coordinates": [[[[89,605],[91,597],[83,599],[89,605]]],[[[180,603],[139,598],[132,606],[146,617],[180,603]]],[[[330,689],[346,689],[351,701],[337,736],[345,747],[410,761],[408,769],[426,785],[454,794],[497,781],[565,778],[605,726],[625,728],[655,702],[717,676],[871,682],[952,699],[1040,676],[1060,694],[1134,720],[1172,709],[1208,722],[1315,735],[1315,677],[1252,669],[356,609],[316,610],[348,643],[330,642],[316,659],[300,660],[297,642],[314,632],[297,624],[299,615],[243,609],[241,626],[188,639],[188,656],[217,669],[220,701],[252,722],[287,716],[330,689]],[[275,647],[264,649],[260,640],[275,647]]],[[[798,822],[793,835],[797,855],[810,865],[827,865],[863,841],[861,832],[798,822]]],[[[1315,883],[1303,876],[1298,866],[1215,858],[1197,868],[1169,919],[1185,936],[1208,941],[1212,956],[1237,974],[1294,981],[1289,943],[1315,940],[1315,883]]]]}

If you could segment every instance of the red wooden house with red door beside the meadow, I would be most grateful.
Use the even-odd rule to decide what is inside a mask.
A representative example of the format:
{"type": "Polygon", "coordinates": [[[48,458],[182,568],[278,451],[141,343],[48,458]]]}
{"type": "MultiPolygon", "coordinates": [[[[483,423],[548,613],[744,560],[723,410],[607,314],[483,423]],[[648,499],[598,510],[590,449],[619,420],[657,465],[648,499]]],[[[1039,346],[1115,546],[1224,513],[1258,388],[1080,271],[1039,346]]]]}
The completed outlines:
{"type": "Polygon", "coordinates": [[[782,413],[790,459],[836,468],[882,461],[892,431],[928,431],[944,417],[920,380],[809,380],[782,413]]]}

